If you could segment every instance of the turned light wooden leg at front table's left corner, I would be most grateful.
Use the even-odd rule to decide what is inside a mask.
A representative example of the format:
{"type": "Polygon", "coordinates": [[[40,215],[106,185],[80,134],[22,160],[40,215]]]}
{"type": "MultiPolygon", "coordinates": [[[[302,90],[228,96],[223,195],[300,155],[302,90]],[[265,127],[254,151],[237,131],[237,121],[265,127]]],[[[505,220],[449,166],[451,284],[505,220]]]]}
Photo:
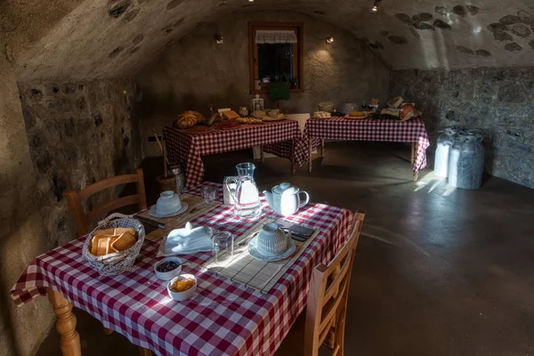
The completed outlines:
{"type": "Polygon", "coordinates": [[[60,347],[63,356],[81,356],[80,336],[76,331],[76,316],[72,304],[60,292],[48,288],[48,300],[57,316],[56,328],[61,335],[60,347]]]}

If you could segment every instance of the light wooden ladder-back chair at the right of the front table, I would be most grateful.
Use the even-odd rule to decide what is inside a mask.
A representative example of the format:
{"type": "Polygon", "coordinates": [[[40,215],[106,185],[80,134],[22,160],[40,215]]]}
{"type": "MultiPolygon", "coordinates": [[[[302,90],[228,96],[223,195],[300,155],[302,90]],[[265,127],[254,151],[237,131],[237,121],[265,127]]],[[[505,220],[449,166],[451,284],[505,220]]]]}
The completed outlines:
{"type": "Polygon", "coordinates": [[[344,354],[344,326],[352,263],[365,213],[354,214],[352,233],[342,250],[327,265],[312,271],[306,309],[295,321],[276,355],[319,355],[323,346],[332,355],[344,354]]]}

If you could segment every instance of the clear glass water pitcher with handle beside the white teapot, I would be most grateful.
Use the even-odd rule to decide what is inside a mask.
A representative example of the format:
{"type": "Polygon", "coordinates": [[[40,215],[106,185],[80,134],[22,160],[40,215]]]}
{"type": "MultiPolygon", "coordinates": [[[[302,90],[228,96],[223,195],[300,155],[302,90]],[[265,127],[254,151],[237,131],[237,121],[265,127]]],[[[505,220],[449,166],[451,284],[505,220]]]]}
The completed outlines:
{"type": "Polygon", "coordinates": [[[234,214],[242,218],[258,216],[262,213],[262,205],[258,187],[254,182],[255,165],[240,163],[236,169],[238,170],[238,178],[227,177],[224,182],[234,199],[234,214]],[[230,186],[232,182],[236,184],[235,189],[230,186]]]}

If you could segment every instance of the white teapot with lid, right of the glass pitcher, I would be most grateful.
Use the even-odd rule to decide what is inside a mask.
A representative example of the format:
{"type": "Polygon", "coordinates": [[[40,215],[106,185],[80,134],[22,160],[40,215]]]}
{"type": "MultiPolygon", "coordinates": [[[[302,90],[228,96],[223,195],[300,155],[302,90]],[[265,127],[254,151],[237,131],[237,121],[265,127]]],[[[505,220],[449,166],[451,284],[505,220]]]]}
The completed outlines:
{"type": "Polygon", "coordinates": [[[263,190],[263,194],[265,194],[271,209],[280,215],[295,214],[299,208],[310,201],[310,195],[307,192],[300,191],[297,187],[286,182],[273,187],[271,191],[263,190]],[[305,196],[302,202],[301,194],[305,196]]]}

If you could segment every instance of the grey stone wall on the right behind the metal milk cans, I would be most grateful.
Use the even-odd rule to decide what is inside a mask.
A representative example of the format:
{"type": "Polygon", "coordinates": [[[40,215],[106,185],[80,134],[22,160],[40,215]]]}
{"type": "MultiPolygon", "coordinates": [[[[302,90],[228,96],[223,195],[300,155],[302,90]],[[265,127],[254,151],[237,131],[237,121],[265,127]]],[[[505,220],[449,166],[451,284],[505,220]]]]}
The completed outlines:
{"type": "Polygon", "coordinates": [[[534,68],[400,70],[390,82],[390,96],[423,109],[433,141],[444,126],[480,127],[487,171],[534,188],[534,68]]]}

